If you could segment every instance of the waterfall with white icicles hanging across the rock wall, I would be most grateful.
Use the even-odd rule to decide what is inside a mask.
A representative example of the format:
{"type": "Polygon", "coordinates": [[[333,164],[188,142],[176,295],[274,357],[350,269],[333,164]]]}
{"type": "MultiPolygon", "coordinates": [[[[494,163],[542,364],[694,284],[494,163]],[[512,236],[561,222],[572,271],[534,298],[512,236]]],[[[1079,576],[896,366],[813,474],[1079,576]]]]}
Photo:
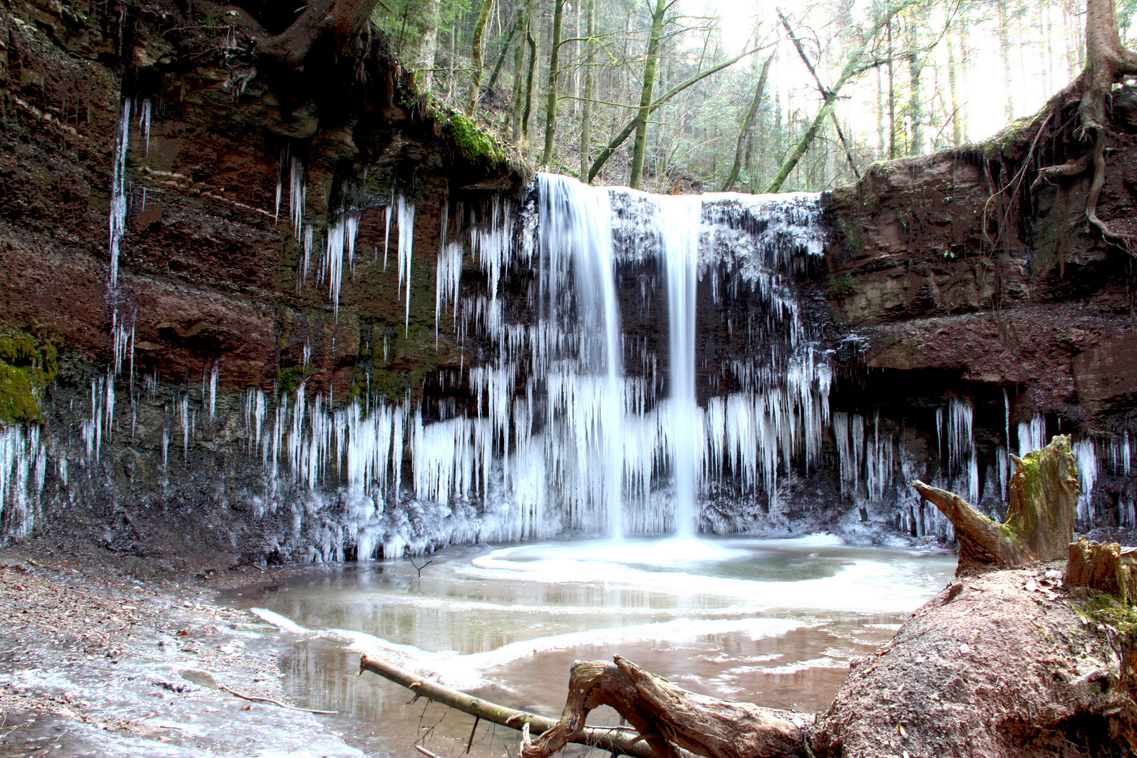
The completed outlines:
{"type": "MultiPolygon", "coordinates": [[[[126,219],[130,115],[124,99],[109,222],[113,292],[126,219]]],[[[345,259],[354,273],[366,206],[340,208],[326,227],[306,219],[304,164],[285,150],[276,216],[285,167],[302,253],[297,289],[306,281],[319,224],[326,238],[323,255],[317,251],[317,280],[327,277],[338,316],[345,259]]],[[[409,336],[415,203],[398,192],[388,202],[372,201],[383,205],[384,268],[396,220],[397,281],[409,336]]],[[[564,532],[694,535],[738,527],[741,522],[724,516],[722,503],[733,503],[736,513],[765,509],[773,520],[791,505],[791,488],[822,464],[830,440],[827,456],[836,456],[843,499],[862,518],[895,502],[895,525],[915,536],[951,538],[951,525],[908,491],[912,478],[953,488],[977,505],[1005,498],[1009,398],[1005,447],[997,448],[994,464],[984,461],[985,476],[974,410],[965,398],[948,398],[935,411],[935,476],[928,461],[913,458],[903,427],[889,426],[871,408],[831,413],[830,355],[811,331],[798,284],[825,247],[816,194],[661,197],[540,174],[520,208],[497,197],[443,201],[441,230],[435,340],[440,327],[453,327],[462,358],[457,370],[443,369],[438,381],[468,390],[465,405],[453,397],[413,402],[409,394],[373,395],[371,373],[365,392],[338,403],[327,385],[243,393],[243,430],[236,433],[263,467],[264,507],[300,498],[313,508],[335,503],[343,515],[313,543],[314,558],[342,558],[351,544],[367,558],[449,541],[564,532]],[[484,284],[464,286],[467,263],[480,268],[484,284]],[[700,320],[707,313],[721,315],[721,328],[700,320]],[[630,326],[637,319],[647,326],[630,326]],[[704,351],[712,330],[731,345],[721,351],[724,358],[704,351]],[[475,341],[482,358],[468,365],[465,348],[475,341]]],[[[377,264],[377,239],[364,239],[376,242],[377,264]]],[[[82,425],[92,463],[111,438],[115,377],[127,356],[133,377],[134,316],[123,316],[117,295],[111,301],[113,369],[91,381],[90,418],[82,425]]],[[[306,341],[305,367],[310,350],[306,341]]],[[[218,377],[218,363],[207,364],[200,397],[177,390],[168,401],[161,428],[166,475],[180,466],[168,460],[175,423],[185,466],[193,465],[202,435],[221,426],[213,420],[218,377]],[[201,430],[199,410],[210,419],[201,430]]],[[[143,393],[155,402],[157,392],[157,377],[147,376],[143,393]]],[[[133,393],[131,401],[133,430],[133,393]]],[[[27,503],[42,486],[48,447],[36,430],[0,428],[0,514],[31,513],[27,503]]],[[[1016,431],[1020,452],[1045,443],[1040,415],[1016,431]]],[[[1109,472],[1128,474],[1128,433],[1109,443],[1078,440],[1074,451],[1086,516],[1095,481],[1109,472]]],[[[66,472],[66,459],[59,470],[66,472]]],[[[1130,503],[1126,518],[1135,522],[1131,511],[1130,503]]]]}

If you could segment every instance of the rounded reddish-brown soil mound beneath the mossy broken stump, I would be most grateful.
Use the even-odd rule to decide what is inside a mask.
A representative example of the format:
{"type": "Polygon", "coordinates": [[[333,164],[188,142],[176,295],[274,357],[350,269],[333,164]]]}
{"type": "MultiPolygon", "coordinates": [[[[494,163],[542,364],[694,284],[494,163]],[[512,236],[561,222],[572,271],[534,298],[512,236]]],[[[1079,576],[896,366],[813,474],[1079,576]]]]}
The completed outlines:
{"type": "Polygon", "coordinates": [[[818,756],[1129,756],[1134,639],[1061,565],[964,576],[854,661],[818,756]],[[1115,623],[1115,622],[1114,622],[1115,623]]]}

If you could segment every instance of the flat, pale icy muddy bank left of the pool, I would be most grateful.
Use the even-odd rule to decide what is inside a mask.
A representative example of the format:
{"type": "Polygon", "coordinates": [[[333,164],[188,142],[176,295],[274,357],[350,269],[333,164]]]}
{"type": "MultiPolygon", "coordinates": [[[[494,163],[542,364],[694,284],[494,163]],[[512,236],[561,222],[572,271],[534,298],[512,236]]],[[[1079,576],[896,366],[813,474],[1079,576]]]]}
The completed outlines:
{"type": "Polygon", "coordinates": [[[194,580],[78,550],[36,556],[0,556],[0,755],[362,755],[325,716],[219,689],[289,701],[280,630],[213,602],[215,585],[289,569],[194,580]]]}

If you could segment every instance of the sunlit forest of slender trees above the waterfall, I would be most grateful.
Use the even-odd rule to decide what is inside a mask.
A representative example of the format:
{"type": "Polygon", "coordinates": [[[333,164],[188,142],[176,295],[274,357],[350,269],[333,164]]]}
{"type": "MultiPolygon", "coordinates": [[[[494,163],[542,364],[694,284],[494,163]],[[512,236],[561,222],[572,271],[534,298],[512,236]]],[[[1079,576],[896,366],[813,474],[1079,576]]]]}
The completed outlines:
{"type": "MultiPolygon", "coordinates": [[[[1117,10],[1126,41],[1137,0],[1117,10]]],[[[1082,0],[380,0],[372,19],[421,92],[541,168],[661,192],[848,184],[1032,115],[1085,59],[1082,0]]]]}

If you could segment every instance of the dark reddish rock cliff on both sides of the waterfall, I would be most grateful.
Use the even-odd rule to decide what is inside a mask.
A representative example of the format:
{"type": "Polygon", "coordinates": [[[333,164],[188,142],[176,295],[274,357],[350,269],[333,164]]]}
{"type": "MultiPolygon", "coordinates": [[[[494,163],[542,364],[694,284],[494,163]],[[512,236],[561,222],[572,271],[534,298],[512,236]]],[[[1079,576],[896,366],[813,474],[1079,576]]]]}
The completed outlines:
{"type": "MultiPolygon", "coordinates": [[[[508,233],[524,169],[428,108],[377,35],[317,44],[299,68],[258,57],[287,25],[266,5],[0,5],[5,533],[175,563],[534,533],[487,527],[488,490],[446,506],[400,489],[418,476],[402,440],[426,444],[415,409],[476,414],[491,383],[470,368],[511,349],[474,326],[537,323],[531,272],[498,284],[485,252],[440,255],[472,231],[508,233]],[[456,293],[435,295],[457,270],[472,310],[448,315],[456,293]],[[313,408],[323,436],[289,436],[313,408]],[[339,447],[360,415],[371,463],[339,447]],[[337,484],[359,466],[384,497],[337,484]]],[[[1137,164],[1118,128],[1101,210],[1122,223],[1137,164]]],[[[704,528],[947,539],[907,480],[997,513],[1007,453],[1060,430],[1096,480],[1081,525],[1134,525],[1130,259],[1079,222],[1088,180],[1020,190],[999,216],[1024,149],[1012,135],[893,161],[832,194],[836,241],[797,272],[799,317],[836,372],[820,464],[765,493],[708,493],[704,528]]],[[[636,360],[667,355],[658,272],[617,273],[624,364],[654,376],[636,360]]],[[[731,389],[707,366],[765,344],[735,330],[753,298],[715,305],[731,286],[699,284],[704,406],[707,388],[731,389]]]]}

